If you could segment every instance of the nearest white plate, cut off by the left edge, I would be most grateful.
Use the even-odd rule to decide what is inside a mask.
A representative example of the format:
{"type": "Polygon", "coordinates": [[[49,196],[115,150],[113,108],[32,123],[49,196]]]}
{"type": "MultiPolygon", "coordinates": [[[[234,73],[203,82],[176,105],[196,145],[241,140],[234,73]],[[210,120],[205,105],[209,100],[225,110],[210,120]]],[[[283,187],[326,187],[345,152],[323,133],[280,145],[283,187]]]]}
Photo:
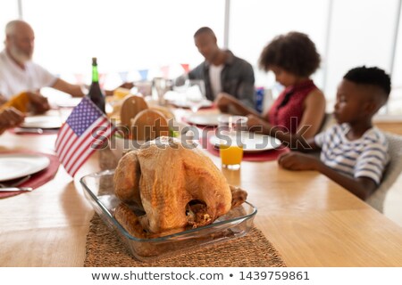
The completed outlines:
{"type": "Polygon", "coordinates": [[[32,175],[50,165],[50,159],[36,154],[0,154],[0,181],[32,175]]]}

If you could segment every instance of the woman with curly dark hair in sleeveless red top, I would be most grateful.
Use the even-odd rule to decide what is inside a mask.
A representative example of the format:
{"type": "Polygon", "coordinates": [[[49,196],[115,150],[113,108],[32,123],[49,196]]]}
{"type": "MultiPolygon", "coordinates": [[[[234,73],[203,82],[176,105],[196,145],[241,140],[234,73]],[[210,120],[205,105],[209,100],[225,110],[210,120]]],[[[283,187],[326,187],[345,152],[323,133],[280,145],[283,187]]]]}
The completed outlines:
{"type": "Polygon", "coordinates": [[[285,87],[271,109],[261,116],[227,94],[220,94],[217,105],[223,112],[247,116],[248,127],[255,132],[285,142],[311,138],[322,126],[325,114],[324,95],[310,78],[320,60],[306,34],[289,32],[275,37],[264,47],[259,59],[260,68],[271,70],[276,81],[285,87]]]}

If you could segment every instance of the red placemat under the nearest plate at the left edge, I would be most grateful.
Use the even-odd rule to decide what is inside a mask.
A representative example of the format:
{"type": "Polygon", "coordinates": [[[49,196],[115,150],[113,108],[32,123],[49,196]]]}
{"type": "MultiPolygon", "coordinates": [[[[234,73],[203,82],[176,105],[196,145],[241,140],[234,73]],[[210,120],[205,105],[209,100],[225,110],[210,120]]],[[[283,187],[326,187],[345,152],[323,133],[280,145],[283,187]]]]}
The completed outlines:
{"type": "MultiPolygon", "coordinates": [[[[27,153],[27,154],[38,154],[44,155],[48,159],[50,159],[50,165],[46,167],[46,169],[39,171],[36,174],[31,175],[28,181],[21,183],[18,187],[32,187],[33,189],[42,186],[43,184],[49,182],[54,178],[54,175],[57,173],[57,169],[59,168],[60,162],[59,159],[52,154],[37,152],[37,151],[0,151],[0,153],[27,153]]],[[[27,191],[11,191],[11,192],[0,192],[0,199],[6,197],[12,197],[15,195],[19,195],[27,191]]]]}

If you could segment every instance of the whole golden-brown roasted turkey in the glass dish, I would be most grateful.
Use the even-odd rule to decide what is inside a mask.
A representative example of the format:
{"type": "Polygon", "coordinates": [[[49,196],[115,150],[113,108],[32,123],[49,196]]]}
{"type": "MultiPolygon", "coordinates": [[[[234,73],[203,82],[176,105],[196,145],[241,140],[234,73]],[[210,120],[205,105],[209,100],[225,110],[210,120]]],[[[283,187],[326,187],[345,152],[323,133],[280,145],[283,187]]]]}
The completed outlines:
{"type": "Polygon", "coordinates": [[[247,198],[202,151],[166,136],[121,158],[114,192],[123,202],[114,216],[139,238],[212,224],[247,198]]]}

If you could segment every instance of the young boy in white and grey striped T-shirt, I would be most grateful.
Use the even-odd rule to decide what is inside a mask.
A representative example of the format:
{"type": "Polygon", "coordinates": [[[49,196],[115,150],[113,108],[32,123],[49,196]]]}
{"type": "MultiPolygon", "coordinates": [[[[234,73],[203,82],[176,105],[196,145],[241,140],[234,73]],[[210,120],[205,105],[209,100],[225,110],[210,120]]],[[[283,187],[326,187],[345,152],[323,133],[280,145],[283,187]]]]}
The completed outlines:
{"type": "Polygon", "coordinates": [[[307,141],[311,146],[308,151],[321,150],[321,160],[291,151],[281,156],[280,166],[317,170],[360,199],[367,199],[380,184],[389,162],[388,142],[372,122],[389,93],[390,78],[384,70],[349,70],[338,87],[334,110],[338,124],[307,141]]]}

